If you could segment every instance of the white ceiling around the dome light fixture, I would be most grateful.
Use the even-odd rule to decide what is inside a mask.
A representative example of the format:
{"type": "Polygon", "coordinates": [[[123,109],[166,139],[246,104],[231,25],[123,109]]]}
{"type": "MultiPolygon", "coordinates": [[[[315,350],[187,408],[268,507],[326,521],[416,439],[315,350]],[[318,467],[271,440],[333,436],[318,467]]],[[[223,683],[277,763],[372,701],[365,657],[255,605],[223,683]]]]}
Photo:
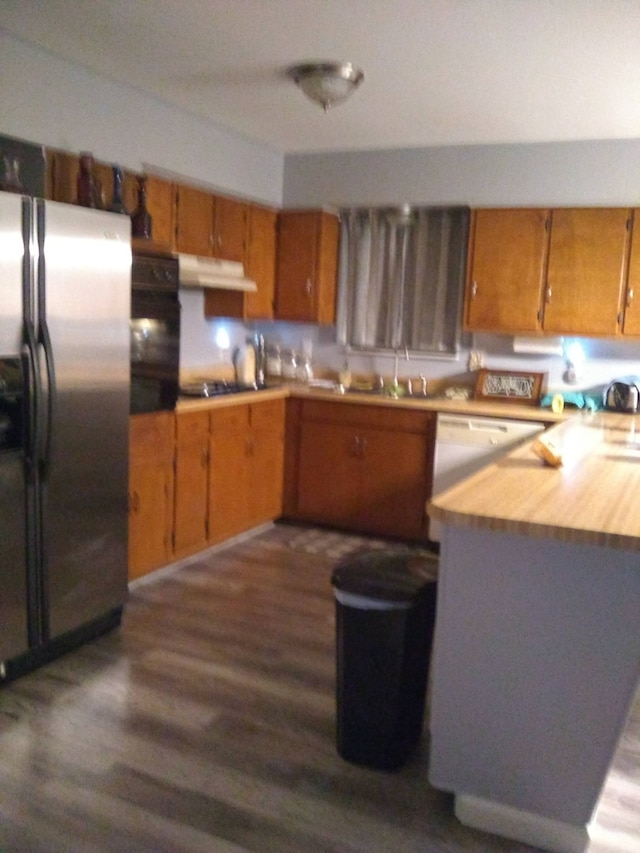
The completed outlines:
{"type": "Polygon", "coordinates": [[[0,27],[284,151],[640,138],[640,0],[2,0],[0,27]],[[348,60],[330,110],[284,75],[348,60]]]}

